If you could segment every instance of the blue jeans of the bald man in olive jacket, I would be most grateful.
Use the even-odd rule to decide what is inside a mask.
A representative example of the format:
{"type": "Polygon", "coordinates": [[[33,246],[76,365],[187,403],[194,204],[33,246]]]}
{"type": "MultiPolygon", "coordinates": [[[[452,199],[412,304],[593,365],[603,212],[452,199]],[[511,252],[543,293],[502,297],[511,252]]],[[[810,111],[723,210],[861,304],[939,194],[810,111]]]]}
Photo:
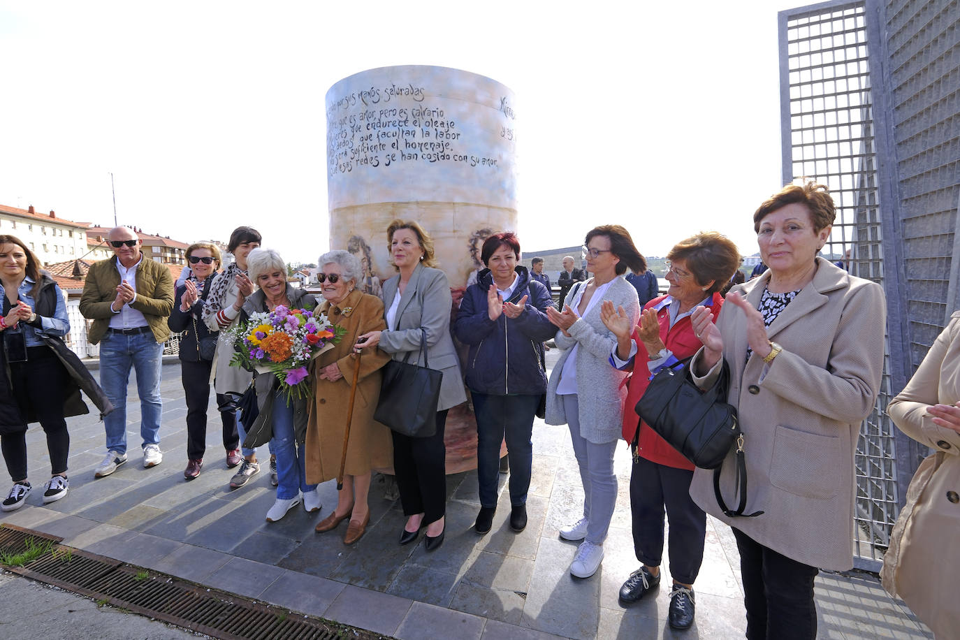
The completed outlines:
{"type": "Polygon", "coordinates": [[[154,334],[125,336],[107,330],[100,342],[100,386],[114,410],[104,417],[107,450],[127,453],[127,384],[131,367],[136,370],[136,392],[140,396],[140,437],[142,446],[160,443],[160,366],[163,344],[154,334]]]}

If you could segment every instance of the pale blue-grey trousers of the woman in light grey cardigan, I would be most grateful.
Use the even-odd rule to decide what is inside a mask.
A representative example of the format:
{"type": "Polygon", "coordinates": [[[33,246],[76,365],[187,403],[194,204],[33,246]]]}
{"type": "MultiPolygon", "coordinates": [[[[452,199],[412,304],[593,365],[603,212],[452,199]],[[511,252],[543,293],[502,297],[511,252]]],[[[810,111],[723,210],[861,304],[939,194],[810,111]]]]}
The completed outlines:
{"type": "Polygon", "coordinates": [[[584,485],[584,517],[587,518],[587,541],[602,545],[607,539],[613,508],[616,505],[616,476],[613,475],[613,452],[618,440],[595,444],[580,435],[580,409],[575,393],[564,399],[566,424],[570,428],[573,454],[580,466],[584,485]]]}

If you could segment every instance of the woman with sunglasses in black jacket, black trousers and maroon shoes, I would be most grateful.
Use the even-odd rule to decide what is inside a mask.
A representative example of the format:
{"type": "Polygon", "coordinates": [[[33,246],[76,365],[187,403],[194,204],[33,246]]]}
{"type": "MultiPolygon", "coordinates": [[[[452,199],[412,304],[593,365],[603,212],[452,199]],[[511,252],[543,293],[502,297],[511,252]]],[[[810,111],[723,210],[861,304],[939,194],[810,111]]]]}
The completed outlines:
{"type": "MultiPolygon", "coordinates": [[[[186,398],[186,469],[183,477],[193,480],[200,475],[206,450],[206,405],[210,399],[210,371],[213,353],[207,353],[210,343],[216,344],[217,332],[210,331],[203,319],[204,301],[210,294],[210,285],[220,268],[220,249],[208,242],[198,242],[186,249],[190,275],[177,287],[174,310],[167,320],[170,330],[180,336],[180,380],[186,398]],[[201,349],[204,344],[204,349],[201,349]]],[[[217,407],[224,426],[224,448],[228,459],[237,451],[236,410],[224,393],[217,393],[217,407]]]]}

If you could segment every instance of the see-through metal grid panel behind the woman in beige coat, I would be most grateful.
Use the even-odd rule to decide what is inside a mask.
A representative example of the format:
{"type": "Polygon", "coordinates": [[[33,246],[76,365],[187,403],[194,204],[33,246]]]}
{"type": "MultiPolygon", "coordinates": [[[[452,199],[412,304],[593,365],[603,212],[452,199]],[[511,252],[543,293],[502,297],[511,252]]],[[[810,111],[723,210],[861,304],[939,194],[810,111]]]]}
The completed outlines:
{"type": "MultiPolygon", "coordinates": [[[[824,254],[842,261],[852,274],[885,286],[865,3],[828,3],[785,13],[780,22],[784,178],[828,186],[837,219],[824,254]]],[[[892,397],[889,345],[887,337],[881,391],[860,426],[855,457],[852,544],[857,566],[873,570],[899,512],[897,445],[886,415],[892,397]]]]}

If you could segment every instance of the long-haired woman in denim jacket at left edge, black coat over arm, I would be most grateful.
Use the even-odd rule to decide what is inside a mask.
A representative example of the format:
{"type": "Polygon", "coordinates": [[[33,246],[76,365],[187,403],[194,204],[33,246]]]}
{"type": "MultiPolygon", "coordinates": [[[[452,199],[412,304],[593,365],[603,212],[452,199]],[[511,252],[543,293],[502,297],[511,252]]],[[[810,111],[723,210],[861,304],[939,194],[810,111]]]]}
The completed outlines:
{"type": "Polygon", "coordinates": [[[27,424],[39,422],[47,443],[51,476],[43,486],[46,505],[66,496],[70,487],[66,475],[70,434],[63,418],[85,413],[74,380],[84,381],[84,391],[101,413],[109,403],[80,359],[63,344],[61,336],[70,331],[63,292],[39,270],[34,252],[11,235],[0,235],[0,285],[0,341],[4,344],[0,349],[0,448],[13,481],[0,510],[12,511],[26,504],[32,489],[27,479],[27,424]]]}

